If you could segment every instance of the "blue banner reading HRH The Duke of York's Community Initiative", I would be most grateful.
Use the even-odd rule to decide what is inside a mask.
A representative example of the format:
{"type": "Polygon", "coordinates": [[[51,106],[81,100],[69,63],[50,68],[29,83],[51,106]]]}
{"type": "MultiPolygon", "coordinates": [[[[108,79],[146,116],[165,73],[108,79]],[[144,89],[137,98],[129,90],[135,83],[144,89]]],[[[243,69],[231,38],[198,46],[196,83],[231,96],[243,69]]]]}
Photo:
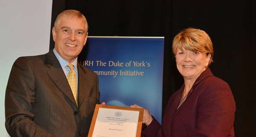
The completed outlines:
{"type": "Polygon", "coordinates": [[[163,37],[91,36],[78,61],[98,74],[100,102],[137,104],[161,123],[163,50],[163,37]]]}

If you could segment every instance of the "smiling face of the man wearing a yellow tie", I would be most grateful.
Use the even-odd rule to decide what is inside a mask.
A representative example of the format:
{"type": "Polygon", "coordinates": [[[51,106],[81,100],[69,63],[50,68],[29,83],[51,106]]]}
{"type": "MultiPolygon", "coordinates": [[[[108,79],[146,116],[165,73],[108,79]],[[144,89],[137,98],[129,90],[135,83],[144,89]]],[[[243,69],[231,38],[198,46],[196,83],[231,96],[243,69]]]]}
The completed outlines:
{"type": "Polygon", "coordinates": [[[58,31],[52,29],[55,49],[58,54],[72,63],[83,49],[88,32],[85,32],[85,23],[77,18],[62,17],[59,20],[58,31]]]}

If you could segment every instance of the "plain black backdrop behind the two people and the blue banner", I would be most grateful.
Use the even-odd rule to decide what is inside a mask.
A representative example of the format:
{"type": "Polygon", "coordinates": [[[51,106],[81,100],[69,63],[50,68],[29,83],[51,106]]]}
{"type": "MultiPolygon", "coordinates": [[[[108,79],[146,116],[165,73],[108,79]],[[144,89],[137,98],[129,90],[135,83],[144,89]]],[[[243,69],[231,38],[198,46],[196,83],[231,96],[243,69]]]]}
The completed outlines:
{"type": "Polygon", "coordinates": [[[206,31],[214,48],[210,68],[236,101],[236,137],[256,137],[255,0],[53,0],[52,26],[66,9],[85,15],[89,36],[165,37],[163,112],[184,81],[172,54],[174,36],[188,27],[206,31]]]}

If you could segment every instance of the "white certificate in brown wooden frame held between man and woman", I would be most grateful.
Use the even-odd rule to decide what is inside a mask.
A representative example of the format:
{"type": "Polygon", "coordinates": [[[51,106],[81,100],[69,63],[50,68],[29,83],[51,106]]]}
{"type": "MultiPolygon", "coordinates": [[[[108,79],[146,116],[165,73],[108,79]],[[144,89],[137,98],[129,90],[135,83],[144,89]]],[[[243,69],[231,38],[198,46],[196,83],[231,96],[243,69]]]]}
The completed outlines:
{"type": "Polygon", "coordinates": [[[143,108],[96,105],[88,137],[140,137],[143,108]]]}

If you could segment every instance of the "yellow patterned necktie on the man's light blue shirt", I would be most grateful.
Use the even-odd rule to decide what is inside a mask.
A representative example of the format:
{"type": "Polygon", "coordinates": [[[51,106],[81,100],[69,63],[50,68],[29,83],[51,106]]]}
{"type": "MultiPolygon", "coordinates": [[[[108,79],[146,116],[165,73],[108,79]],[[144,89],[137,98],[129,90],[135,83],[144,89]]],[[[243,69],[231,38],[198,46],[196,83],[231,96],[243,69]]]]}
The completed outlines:
{"type": "Polygon", "coordinates": [[[70,86],[70,88],[72,90],[72,93],[74,95],[74,98],[76,100],[76,105],[78,105],[77,96],[76,96],[76,73],[74,71],[74,68],[73,68],[72,64],[68,64],[67,66],[70,68],[67,79],[69,81],[69,86],[70,86]]]}

